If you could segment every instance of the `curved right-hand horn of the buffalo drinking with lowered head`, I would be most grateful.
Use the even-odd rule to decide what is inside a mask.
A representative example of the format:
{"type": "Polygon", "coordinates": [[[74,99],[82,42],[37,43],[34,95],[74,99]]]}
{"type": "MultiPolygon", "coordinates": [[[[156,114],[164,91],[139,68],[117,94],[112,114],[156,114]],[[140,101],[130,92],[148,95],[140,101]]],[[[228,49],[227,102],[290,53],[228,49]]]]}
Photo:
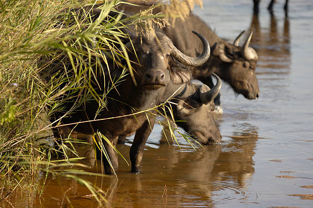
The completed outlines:
{"type": "Polygon", "coordinates": [[[207,103],[211,102],[212,100],[214,100],[214,98],[217,96],[217,94],[219,93],[219,90],[221,88],[220,78],[214,73],[212,73],[212,75],[216,79],[216,85],[211,90],[207,85],[202,85],[200,87],[200,100],[204,104],[207,104],[207,103]]]}

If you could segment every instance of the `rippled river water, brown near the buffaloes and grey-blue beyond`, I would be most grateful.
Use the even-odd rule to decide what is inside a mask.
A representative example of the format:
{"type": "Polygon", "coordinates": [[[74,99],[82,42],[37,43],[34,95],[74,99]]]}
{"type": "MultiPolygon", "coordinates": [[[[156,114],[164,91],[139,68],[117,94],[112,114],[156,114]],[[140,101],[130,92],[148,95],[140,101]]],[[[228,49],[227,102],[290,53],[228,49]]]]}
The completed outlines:
{"type": "MultiPolygon", "coordinates": [[[[290,1],[288,18],[278,0],[274,14],[252,1],[204,1],[195,13],[220,37],[254,31],[260,97],[236,96],[223,83],[220,144],[194,151],[177,135],[169,146],[157,124],[148,139],[142,173],[120,159],[116,176],[83,176],[105,191],[106,207],[313,207],[313,2],[290,1]]],[[[243,38],[244,39],[244,38],[243,38]]],[[[132,138],[118,144],[129,160],[132,138]]],[[[85,147],[81,147],[86,150],[85,147]]],[[[94,167],[94,158],[84,161],[94,167]]],[[[100,163],[98,163],[100,166],[100,163]]],[[[89,171],[95,171],[91,168],[89,171]]],[[[34,179],[40,188],[45,175],[34,179]]],[[[90,192],[70,179],[49,176],[41,196],[20,189],[2,207],[98,207],[90,192]]]]}

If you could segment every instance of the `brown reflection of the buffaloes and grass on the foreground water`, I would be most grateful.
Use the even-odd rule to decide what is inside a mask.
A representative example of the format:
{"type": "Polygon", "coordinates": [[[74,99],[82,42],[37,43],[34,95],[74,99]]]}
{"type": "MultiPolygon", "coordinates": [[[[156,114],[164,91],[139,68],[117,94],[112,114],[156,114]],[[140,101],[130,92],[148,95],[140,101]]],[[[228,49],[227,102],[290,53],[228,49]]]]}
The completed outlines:
{"type": "MultiPolygon", "coordinates": [[[[83,178],[105,190],[103,196],[107,201],[103,204],[107,207],[146,207],[147,204],[196,207],[244,200],[251,194],[247,184],[254,173],[252,156],[257,139],[253,138],[258,135],[256,128],[248,123],[236,129],[244,133],[234,132],[237,137],[232,140],[200,148],[197,152],[191,151],[188,145],[184,147],[187,151],[168,144],[160,144],[158,149],[148,147],[140,175],[130,173],[129,167],[120,160],[118,180],[115,176],[83,178]]],[[[118,144],[117,148],[125,156],[129,152],[127,145],[118,144]]],[[[87,157],[82,162],[91,166],[85,170],[101,173],[95,162],[98,166],[101,164],[95,161],[91,149],[81,146],[77,151],[87,157]]],[[[44,175],[37,177],[39,189],[44,179],[44,175]]],[[[19,198],[13,205],[27,202],[28,207],[68,207],[70,204],[97,207],[88,190],[72,179],[49,176],[45,183],[40,197],[32,194],[29,198],[25,193],[26,198],[19,198]]],[[[17,198],[19,192],[15,196],[17,198]]],[[[9,198],[10,201],[13,198],[9,198]]]]}

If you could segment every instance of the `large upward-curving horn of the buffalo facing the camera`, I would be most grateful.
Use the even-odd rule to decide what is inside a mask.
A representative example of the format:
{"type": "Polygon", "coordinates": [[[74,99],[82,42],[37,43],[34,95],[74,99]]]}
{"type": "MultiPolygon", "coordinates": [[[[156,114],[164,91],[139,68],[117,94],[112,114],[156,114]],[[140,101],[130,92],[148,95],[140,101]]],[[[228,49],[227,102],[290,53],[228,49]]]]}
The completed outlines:
{"type": "Polygon", "coordinates": [[[202,54],[198,55],[197,57],[190,57],[190,56],[183,54],[174,45],[172,45],[171,55],[184,65],[197,67],[197,66],[203,65],[210,57],[210,45],[209,45],[209,41],[202,34],[199,34],[195,31],[192,31],[192,32],[196,34],[202,41],[202,44],[203,44],[202,54]]]}

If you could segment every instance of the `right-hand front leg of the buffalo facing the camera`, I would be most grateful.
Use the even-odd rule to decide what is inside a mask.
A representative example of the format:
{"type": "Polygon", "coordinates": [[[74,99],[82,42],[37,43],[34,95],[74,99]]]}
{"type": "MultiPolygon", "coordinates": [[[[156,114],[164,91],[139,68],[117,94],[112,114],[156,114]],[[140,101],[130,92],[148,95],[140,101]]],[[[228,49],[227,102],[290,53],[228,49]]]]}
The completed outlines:
{"type": "Polygon", "coordinates": [[[136,131],[135,138],[133,139],[129,157],[131,161],[131,172],[140,173],[140,163],[143,156],[146,141],[153,129],[155,119],[149,117],[142,126],[136,131]]]}

